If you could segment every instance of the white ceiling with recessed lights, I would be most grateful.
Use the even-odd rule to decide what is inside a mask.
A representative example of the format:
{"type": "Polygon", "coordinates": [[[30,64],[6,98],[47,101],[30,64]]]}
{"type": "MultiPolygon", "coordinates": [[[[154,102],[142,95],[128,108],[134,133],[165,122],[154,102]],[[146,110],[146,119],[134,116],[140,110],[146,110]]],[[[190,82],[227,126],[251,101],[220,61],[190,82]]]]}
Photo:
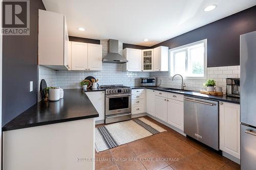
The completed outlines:
{"type": "Polygon", "coordinates": [[[42,0],[65,14],[70,36],[152,46],[256,5],[255,0],[42,0]],[[216,4],[210,12],[203,9],[216,4]],[[78,31],[78,28],[86,31],[78,31]],[[149,39],[149,41],[143,41],[149,39]]]}

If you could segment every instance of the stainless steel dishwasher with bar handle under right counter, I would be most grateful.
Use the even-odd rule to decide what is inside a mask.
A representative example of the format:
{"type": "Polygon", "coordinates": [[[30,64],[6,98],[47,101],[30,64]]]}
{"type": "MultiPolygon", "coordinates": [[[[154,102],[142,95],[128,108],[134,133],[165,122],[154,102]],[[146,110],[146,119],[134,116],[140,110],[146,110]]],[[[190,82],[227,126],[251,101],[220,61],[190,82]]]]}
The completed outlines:
{"type": "Polygon", "coordinates": [[[219,150],[219,102],[185,95],[184,133],[219,150]]]}

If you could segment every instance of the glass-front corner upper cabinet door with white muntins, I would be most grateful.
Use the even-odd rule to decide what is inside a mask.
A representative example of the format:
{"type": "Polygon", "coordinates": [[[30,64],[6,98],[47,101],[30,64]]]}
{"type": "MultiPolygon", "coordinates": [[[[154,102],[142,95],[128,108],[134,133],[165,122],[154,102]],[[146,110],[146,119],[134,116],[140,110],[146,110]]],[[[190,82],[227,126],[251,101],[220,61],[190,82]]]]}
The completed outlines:
{"type": "Polygon", "coordinates": [[[142,71],[153,71],[153,49],[142,50],[142,71]]]}

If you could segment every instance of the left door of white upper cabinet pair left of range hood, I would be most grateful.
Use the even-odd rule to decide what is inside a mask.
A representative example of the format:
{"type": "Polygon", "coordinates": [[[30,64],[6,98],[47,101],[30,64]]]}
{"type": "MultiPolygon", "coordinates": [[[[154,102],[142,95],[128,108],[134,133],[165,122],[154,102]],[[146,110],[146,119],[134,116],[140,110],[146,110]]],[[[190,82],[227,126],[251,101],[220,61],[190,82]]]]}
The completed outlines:
{"type": "Polygon", "coordinates": [[[88,43],[72,42],[72,70],[88,69],[88,43]]]}

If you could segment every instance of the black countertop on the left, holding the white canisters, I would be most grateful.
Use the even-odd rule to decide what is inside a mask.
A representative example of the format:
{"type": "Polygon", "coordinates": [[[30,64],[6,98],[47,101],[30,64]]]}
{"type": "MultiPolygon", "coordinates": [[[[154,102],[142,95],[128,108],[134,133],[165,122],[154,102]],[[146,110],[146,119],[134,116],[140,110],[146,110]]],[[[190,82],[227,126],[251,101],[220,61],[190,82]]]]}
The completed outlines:
{"type": "MultiPolygon", "coordinates": [[[[100,91],[100,89],[95,89],[94,91],[100,91]]],[[[12,119],[11,122],[2,128],[2,131],[69,122],[98,116],[98,112],[83,90],[65,89],[63,99],[57,102],[40,101],[36,103],[12,119]]]]}

